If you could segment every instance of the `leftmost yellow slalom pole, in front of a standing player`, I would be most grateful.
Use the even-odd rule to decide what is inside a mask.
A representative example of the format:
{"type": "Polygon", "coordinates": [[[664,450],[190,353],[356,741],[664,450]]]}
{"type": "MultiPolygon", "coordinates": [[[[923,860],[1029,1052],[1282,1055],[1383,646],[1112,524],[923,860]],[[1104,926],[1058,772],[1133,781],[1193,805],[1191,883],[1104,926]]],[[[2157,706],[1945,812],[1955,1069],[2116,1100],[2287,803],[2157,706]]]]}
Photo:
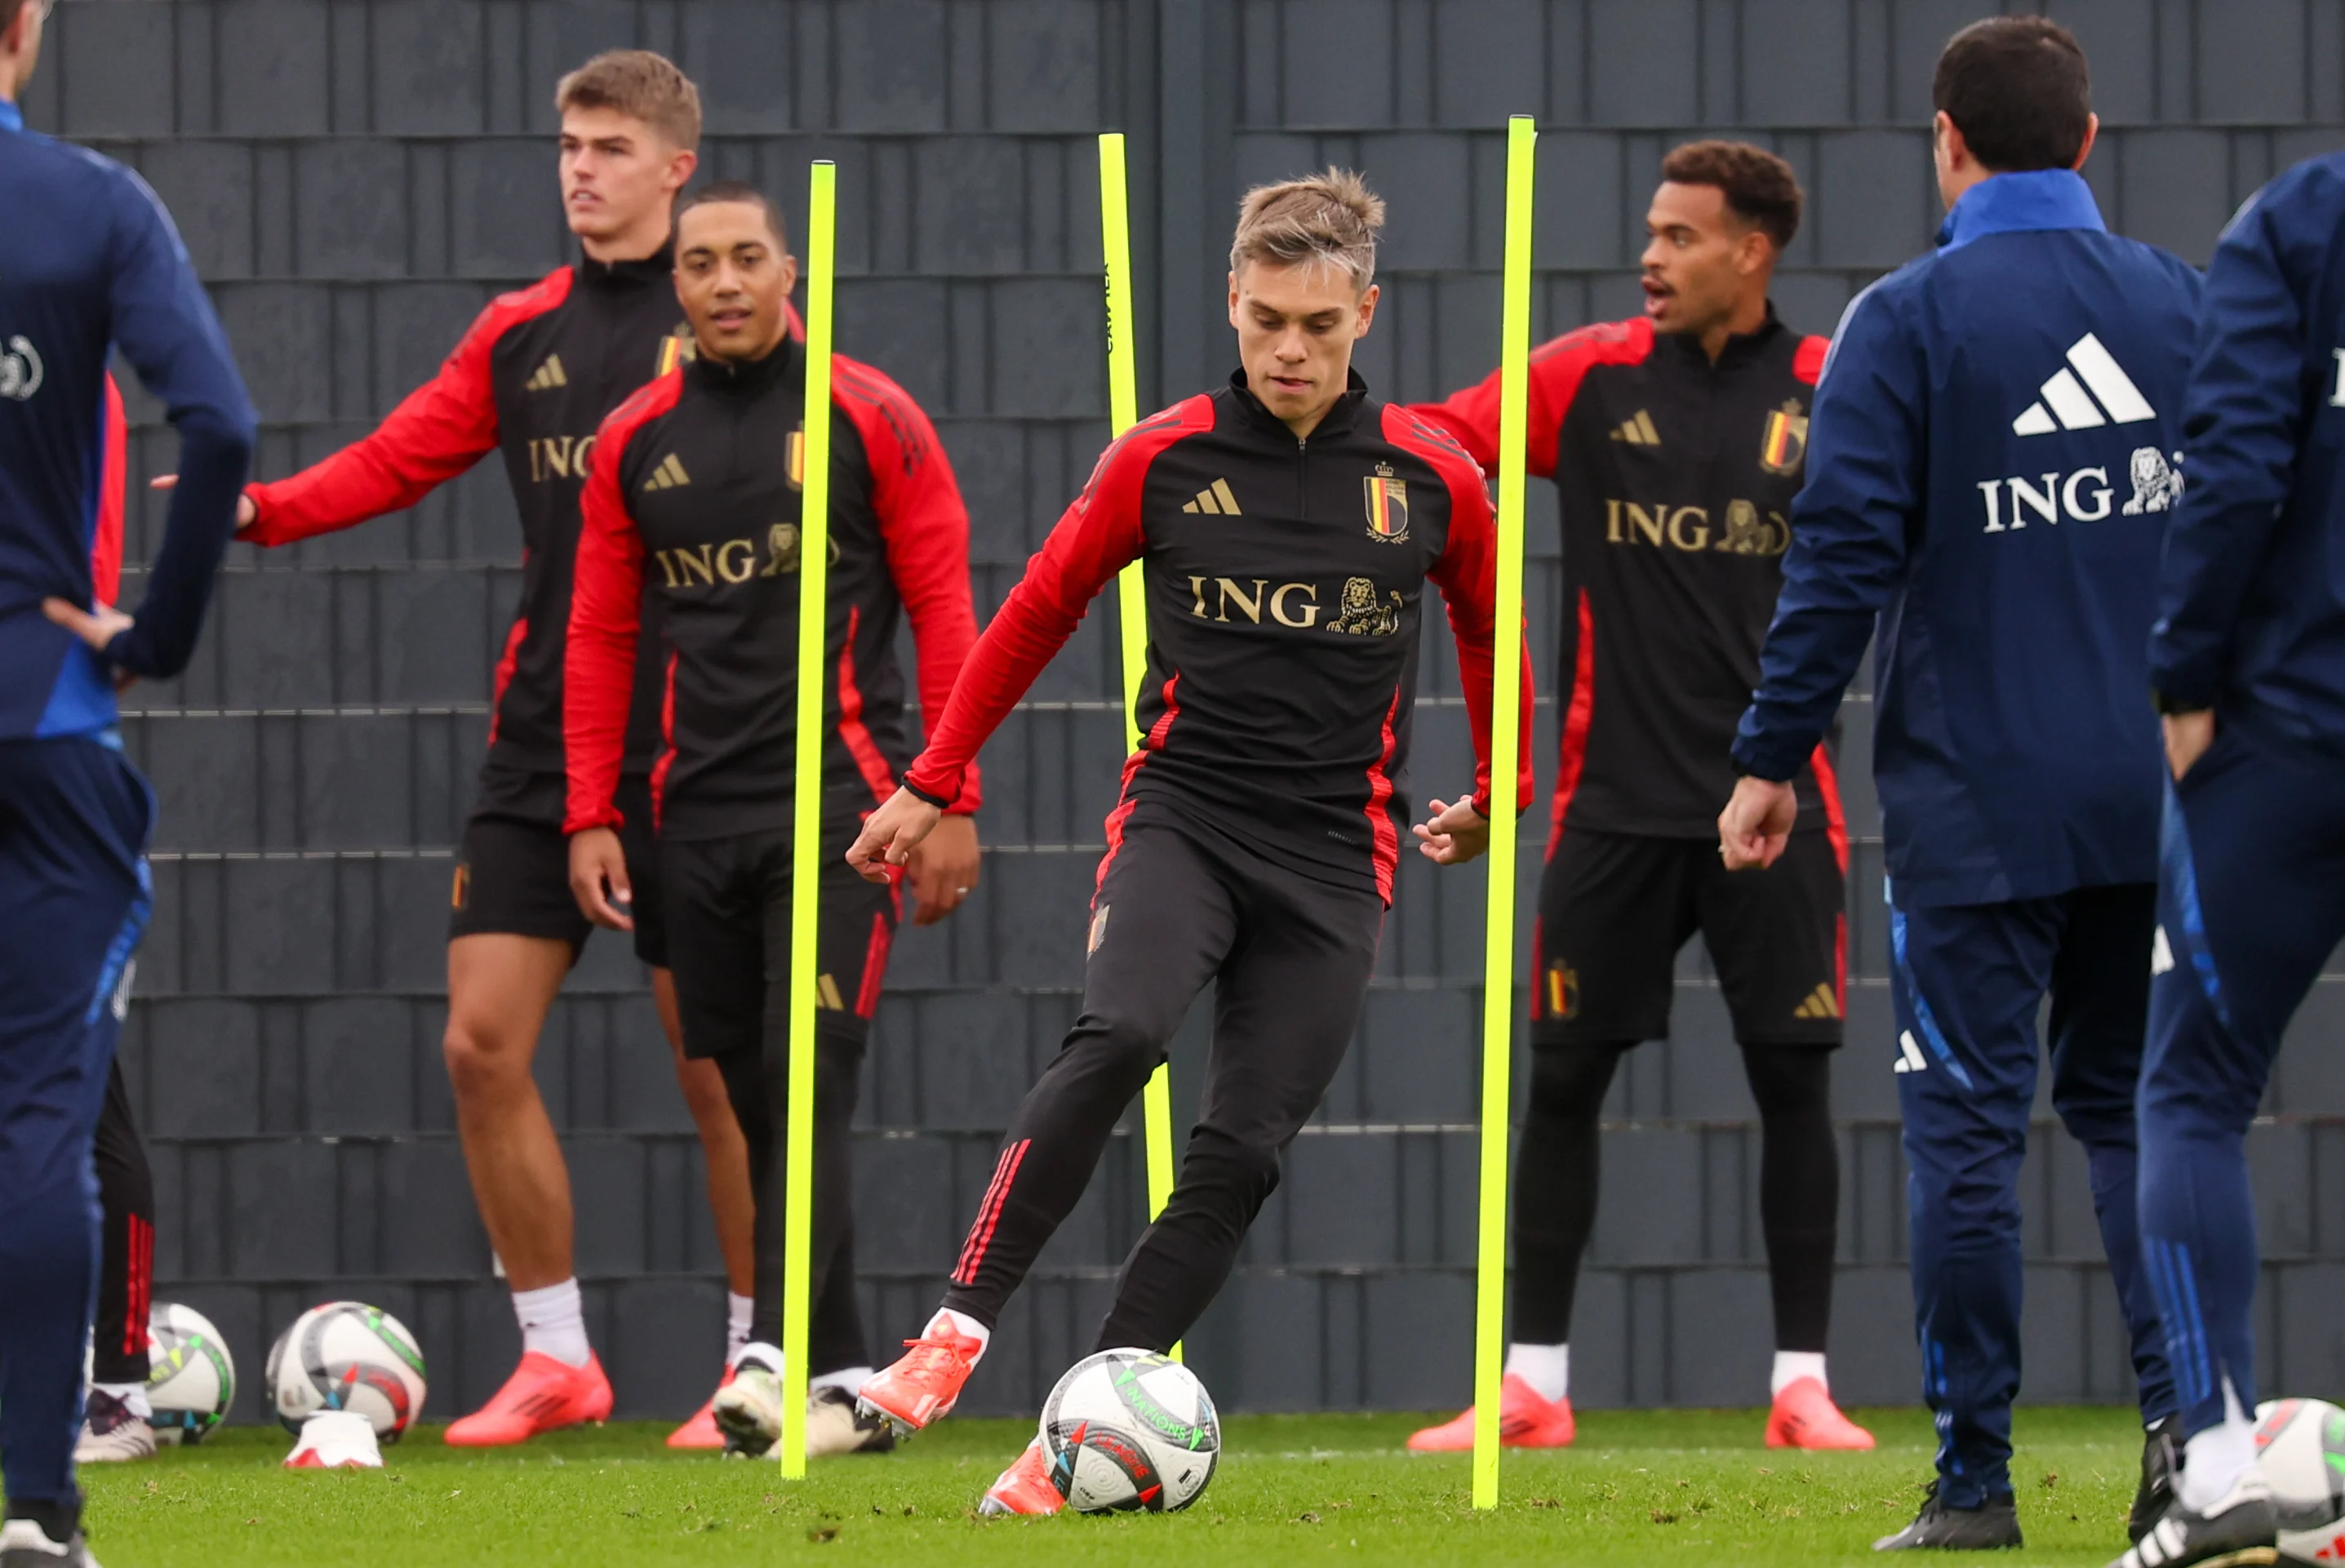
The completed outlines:
{"type": "MultiPolygon", "coordinates": [[[[814,1296],[814,1008],[821,959],[823,659],[830,605],[830,284],[837,164],[816,162],[807,202],[804,490],[797,516],[797,780],[790,844],[790,1127],[783,1167],[781,1474],[807,1474],[807,1317],[814,1296]]],[[[783,457],[776,452],[776,457],[783,457]]]]}

